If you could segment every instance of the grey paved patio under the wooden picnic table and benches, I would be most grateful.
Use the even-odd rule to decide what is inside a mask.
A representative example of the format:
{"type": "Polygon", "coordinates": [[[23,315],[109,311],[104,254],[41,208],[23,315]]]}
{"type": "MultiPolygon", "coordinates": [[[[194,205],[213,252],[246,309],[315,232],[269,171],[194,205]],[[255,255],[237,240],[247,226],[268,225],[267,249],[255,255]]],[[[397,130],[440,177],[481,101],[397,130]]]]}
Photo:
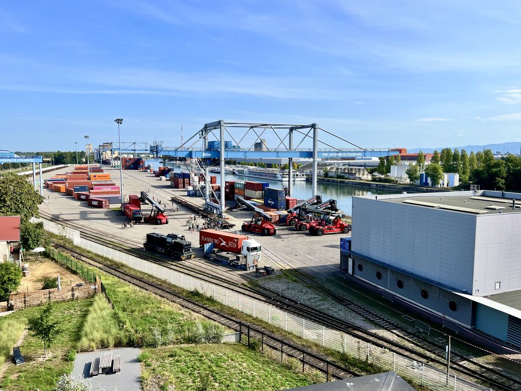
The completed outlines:
{"type": "Polygon", "coordinates": [[[105,389],[107,391],[140,391],[141,383],[141,367],[137,359],[139,355],[138,348],[120,348],[111,350],[98,350],[88,353],[79,353],[74,362],[72,369],[72,377],[84,377],[91,385],[92,389],[105,389]],[[107,373],[97,376],[89,376],[91,369],[91,361],[96,357],[101,357],[105,351],[112,351],[112,357],[121,356],[121,372],[107,373]]]}

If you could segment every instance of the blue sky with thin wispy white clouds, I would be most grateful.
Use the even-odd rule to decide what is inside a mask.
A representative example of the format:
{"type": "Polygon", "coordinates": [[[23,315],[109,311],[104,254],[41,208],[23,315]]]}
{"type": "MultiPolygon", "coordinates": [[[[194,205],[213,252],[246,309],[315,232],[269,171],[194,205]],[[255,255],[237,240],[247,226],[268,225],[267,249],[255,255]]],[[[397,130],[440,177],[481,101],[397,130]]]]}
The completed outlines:
{"type": "Polygon", "coordinates": [[[219,119],[364,148],[521,141],[521,2],[1,2],[0,102],[11,151],[117,141],[115,118],[172,147],[219,119]]]}

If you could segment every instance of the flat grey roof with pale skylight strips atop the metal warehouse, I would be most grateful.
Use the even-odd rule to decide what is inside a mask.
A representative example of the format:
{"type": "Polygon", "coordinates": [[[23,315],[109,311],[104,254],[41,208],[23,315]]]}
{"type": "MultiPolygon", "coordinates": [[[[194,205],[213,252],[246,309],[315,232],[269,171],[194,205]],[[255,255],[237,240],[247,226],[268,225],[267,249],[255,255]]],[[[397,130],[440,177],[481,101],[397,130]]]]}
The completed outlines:
{"type": "Polygon", "coordinates": [[[432,209],[442,209],[457,213],[472,213],[476,215],[519,213],[521,201],[515,201],[515,209],[512,207],[512,199],[483,196],[451,196],[450,193],[403,194],[404,197],[382,200],[384,202],[402,203],[432,209]]]}

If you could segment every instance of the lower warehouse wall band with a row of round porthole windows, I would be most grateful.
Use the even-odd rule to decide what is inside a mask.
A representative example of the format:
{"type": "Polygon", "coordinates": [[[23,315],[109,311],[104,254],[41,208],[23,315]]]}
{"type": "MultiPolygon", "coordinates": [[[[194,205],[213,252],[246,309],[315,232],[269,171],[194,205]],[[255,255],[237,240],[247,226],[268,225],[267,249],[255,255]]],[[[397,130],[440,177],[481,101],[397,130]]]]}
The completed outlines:
{"type": "Polygon", "coordinates": [[[396,295],[421,304],[421,306],[441,312],[445,316],[463,322],[467,326],[474,326],[471,300],[465,299],[450,291],[438,288],[411,276],[365,261],[357,256],[353,255],[352,258],[354,276],[363,278],[371,283],[386,288],[396,295]],[[362,265],[362,271],[359,270],[358,265],[362,265]],[[377,272],[381,273],[381,279],[378,279],[377,272]],[[398,280],[402,281],[403,288],[398,287],[398,280]],[[427,291],[427,299],[421,297],[422,289],[427,291]],[[457,311],[452,311],[449,308],[449,301],[456,302],[457,311]]]}

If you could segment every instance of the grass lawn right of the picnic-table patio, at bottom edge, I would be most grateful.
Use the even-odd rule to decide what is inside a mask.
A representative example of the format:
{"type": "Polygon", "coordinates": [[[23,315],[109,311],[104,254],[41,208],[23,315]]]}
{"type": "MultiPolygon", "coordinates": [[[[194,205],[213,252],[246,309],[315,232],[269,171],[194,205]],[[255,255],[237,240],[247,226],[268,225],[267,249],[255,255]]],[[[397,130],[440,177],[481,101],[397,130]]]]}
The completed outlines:
{"type": "Polygon", "coordinates": [[[141,357],[142,386],[176,390],[269,391],[313,384],[308,375],[294,372],[243,345],[181,345],[146,349],[141,357]],[[149,353],[149,354],[146,354],[149,353]]]}

